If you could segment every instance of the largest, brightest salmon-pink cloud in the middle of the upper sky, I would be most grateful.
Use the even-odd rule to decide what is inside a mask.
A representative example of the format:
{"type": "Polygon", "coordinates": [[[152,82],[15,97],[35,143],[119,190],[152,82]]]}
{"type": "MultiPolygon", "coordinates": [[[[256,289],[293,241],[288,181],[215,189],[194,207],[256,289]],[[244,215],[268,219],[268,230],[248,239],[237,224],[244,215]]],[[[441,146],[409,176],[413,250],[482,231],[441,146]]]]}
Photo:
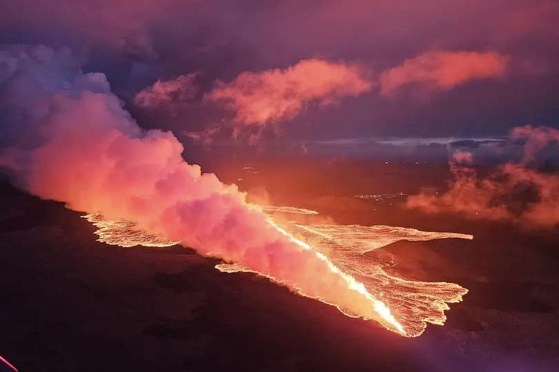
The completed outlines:
{"type": "Polygon", "coordinates": [[[233,110],[237,124],[263,126],[290,119],[312,102],[325,106],[367,92],[373,86],[367,75],[350,63],[303,59],[284,69],[242,72],[230,83],[218,82],[206,99],[233,110]]]}

